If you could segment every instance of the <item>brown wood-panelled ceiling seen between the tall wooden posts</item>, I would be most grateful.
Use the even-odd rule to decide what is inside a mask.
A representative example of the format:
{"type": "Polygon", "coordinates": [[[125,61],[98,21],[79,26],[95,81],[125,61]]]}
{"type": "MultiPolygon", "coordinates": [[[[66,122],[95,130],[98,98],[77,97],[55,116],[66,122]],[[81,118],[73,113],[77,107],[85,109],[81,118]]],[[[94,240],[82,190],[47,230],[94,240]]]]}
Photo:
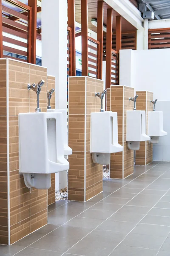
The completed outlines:
{"type": "MultiPolygon", "coordinates": [[[[97,2],[98,0],[88,0],[88,28],[94,32],[97,32],[96,26],[91,24],[91,19],[97,19],[97,2]]],[[[104,24],[107,24],[107,9],[111,8],[107,3],[104,3],[104,24]]],[[[81,23],[81,0],[75,0],[75,11],[76,11],[76,21],[81,23]]],[[[119,13],[113,10],[113,30],[116,30],[116,16],[119,13]]],[[[136,30],[127,20],[122,18],[122,31],[132,31],[136,30]]]]}

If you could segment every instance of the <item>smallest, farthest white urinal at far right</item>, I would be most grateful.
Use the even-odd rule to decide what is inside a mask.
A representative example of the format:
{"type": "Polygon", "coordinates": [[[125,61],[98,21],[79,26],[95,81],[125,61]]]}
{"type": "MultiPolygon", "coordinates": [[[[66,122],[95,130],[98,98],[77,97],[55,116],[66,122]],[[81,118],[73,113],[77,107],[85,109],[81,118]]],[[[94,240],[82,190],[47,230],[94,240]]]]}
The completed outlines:
{"type": "Polygon", "coordinates": [[[159,143],[159,137],[167,135],[163,129],[163,112],[148,112],[147,135],[150,136],[150,142],[159,143]]]}

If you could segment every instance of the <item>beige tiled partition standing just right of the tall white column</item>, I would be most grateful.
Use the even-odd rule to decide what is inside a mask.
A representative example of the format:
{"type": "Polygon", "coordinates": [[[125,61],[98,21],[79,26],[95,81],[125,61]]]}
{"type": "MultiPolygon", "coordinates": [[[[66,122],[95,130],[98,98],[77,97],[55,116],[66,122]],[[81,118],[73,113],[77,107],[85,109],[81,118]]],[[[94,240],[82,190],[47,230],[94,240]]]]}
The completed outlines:
{"type": "Polygon", "coordinates": [[[89,77],[69,77],[68,199],[87,201],[102,191],[102,166],[94,164],[90,153],[91,112],[99,112],[101,102],[95,92],[102,92],[103,81],[89,77]]]}

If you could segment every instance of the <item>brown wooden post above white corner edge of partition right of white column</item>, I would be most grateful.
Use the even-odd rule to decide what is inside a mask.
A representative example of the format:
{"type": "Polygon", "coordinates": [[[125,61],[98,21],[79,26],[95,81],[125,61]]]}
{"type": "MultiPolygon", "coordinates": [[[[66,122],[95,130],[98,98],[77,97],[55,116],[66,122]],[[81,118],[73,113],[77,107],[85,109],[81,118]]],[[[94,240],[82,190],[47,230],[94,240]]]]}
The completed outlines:
{"type": "Polygon", "coordinates": [[[81,0],[82,76],[88,76],[88,0],[81,0]]]}

